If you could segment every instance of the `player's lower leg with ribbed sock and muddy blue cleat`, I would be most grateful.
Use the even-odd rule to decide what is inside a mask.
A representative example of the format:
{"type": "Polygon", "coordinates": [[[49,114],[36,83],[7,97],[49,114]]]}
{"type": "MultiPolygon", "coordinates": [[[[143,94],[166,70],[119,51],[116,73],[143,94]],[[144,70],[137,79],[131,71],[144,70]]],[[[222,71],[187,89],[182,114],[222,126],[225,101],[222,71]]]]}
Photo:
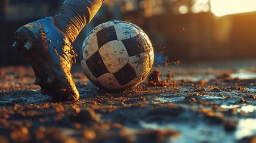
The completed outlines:
{"type": "Polygon", "coordinates": [[[70,69],[76,53],[72,43],[97,13],[101,0],[66,0],[54,17],[26,24],[16,32],[13,47],[35,71],[35,84],[60,100],[79,99],[70,69]]]}

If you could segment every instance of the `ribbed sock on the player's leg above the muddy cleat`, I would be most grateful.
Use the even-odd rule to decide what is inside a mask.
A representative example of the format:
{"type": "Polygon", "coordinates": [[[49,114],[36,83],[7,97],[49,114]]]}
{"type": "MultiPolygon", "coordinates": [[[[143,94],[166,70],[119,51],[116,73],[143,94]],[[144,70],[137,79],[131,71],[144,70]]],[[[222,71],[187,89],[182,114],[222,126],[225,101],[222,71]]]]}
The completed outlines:
{"type": "MultiPolygon", "coordinates": [[[[104,1],[104,0],[103,0],[104,1]]],[[[55,26],[64,32],[71,42],[89,23],[101,7],[102,0],[65,0],[55,15],[55,26]]]]}

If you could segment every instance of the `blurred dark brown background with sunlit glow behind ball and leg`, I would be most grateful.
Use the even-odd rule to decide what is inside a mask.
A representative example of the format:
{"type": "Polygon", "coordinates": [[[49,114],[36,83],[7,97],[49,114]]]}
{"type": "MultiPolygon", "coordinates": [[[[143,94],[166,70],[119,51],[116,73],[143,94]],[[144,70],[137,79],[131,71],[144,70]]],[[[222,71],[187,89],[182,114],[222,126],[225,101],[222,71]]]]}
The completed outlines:
{"type": "MultiPolygon", "coordinates": [[[[14,32],[54,15],[62,3],[0,0],[0,66],[27,64],[11,47],[14,32]]],[[[185,63],[256,59],[255,0],[106,0],[78,36],[75,51],[80,53],[88,32],[110,20],[129,20],[140,26],[153,43],[156,64],[166,59],[185,63]]]]}

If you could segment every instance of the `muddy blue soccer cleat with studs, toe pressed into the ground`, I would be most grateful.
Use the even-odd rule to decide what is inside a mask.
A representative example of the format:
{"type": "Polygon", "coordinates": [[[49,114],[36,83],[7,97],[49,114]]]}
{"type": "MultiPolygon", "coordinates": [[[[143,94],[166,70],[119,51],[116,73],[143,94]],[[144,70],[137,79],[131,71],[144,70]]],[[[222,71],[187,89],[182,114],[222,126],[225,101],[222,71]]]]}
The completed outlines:
{"type": "Polygon", "coordinates": [[[79,92],[70,69],[77,54],[67,36],[46,17],[26,24],[15,33],[14,49],[32,66],[43,94],[58,100],[76,101],[79,92]]]}

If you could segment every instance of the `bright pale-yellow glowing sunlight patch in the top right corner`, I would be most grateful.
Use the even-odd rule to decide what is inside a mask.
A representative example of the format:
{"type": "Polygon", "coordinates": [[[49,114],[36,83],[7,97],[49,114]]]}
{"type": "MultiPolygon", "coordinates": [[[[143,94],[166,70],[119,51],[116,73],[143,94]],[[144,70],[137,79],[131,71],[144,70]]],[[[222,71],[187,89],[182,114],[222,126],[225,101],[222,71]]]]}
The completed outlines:
{"type": "Polygon", "coordinates": [[[255,0],[210,0],[211,11],[217,17],[256,11],[255,0]]]}

